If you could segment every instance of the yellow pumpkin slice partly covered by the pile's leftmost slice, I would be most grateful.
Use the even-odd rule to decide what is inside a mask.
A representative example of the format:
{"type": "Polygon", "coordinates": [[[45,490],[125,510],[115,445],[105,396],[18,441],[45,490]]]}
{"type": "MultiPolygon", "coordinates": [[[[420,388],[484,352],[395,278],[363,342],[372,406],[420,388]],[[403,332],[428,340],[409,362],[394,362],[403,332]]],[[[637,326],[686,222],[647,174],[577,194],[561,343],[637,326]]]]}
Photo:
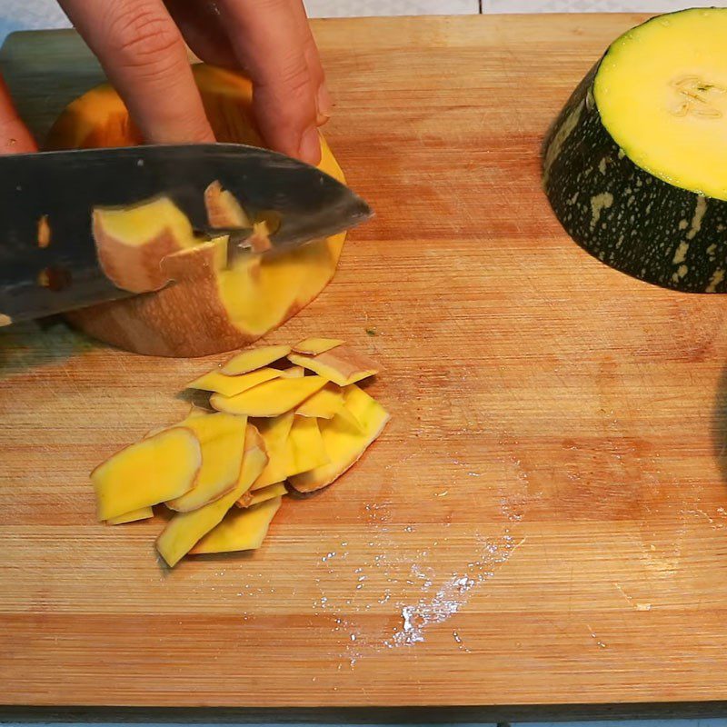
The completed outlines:
{"type": "Polygon", "coordinates": [[[243,466],[245,417],[230,414],[205,414],[187,417],[202,445],[202,467],[188,493],[170,499],[166,506],[180,513],[197,510],[229,493],[237,484],[243,466]]]}

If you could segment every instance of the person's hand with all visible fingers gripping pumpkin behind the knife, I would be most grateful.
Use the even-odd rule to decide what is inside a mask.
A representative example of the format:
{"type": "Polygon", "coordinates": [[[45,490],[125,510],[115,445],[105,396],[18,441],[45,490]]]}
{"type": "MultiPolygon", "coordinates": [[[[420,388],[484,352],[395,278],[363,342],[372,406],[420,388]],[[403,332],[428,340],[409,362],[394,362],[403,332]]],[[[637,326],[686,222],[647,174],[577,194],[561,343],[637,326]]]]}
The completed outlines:
{"type": "MultiPolygon", "coordinates": [[[[250,75],[255,115],[272,148],[319,161],[317,126],[327,120],[331,101],[302,0],[59,2],[147,142],[214,141],[186,41],[204,61],[244,68],[250,75]]],[[[0,87],[0,153],[33,148],[0,87]]]]}

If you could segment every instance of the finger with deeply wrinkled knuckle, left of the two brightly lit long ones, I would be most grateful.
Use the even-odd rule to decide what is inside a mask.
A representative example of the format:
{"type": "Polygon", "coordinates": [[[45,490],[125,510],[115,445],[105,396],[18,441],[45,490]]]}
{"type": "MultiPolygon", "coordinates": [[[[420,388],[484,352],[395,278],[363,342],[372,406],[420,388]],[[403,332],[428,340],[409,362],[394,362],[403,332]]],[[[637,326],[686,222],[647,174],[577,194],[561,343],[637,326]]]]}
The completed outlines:
{"type": "Polygon", "coordinates": [[[214,141],[184,41],[162,0],[60,0],[145,141],[214,141]]]}

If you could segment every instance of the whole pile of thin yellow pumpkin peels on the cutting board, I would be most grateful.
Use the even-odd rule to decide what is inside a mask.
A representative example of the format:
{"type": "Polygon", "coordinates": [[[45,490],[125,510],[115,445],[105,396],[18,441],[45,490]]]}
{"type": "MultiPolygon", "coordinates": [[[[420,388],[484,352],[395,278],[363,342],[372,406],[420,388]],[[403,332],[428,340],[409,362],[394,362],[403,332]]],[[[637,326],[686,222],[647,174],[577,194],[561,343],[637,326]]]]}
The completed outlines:
{"type": "Polygon", "coordinates": [[[328,486],[382,433],[389,414],[356,385],[376,373],[337,339],[235,355],[186,386],[210,392],[215,412],[193,407],[91,473],[99,520],[143,520],[165,503],[174,517],[156,548],[170,566],[187,553],[258,548],[286,483],[328,486]]]}

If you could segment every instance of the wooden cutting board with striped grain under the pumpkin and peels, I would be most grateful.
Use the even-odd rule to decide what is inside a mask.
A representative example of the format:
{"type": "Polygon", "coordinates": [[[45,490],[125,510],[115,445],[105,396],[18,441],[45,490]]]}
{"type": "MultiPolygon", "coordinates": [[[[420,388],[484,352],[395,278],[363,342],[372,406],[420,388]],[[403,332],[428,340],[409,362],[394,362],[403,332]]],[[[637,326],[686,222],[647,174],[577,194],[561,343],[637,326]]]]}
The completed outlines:
{"type": "MultiPolygon", "coordinates": [[[[315,24],[326,133],[377,217],[268,340],[372,354],[393,420],[257,553],[168,573],[160,519],[94,518],[89,471],[223,356],[0,334],[1,702],[727,699],[727,301],[599,264],[539,184],[546,127],[639,19],[315,24]]],[[[5,46],[36,128],[95,79],[73,48],[5,46]]]]}

